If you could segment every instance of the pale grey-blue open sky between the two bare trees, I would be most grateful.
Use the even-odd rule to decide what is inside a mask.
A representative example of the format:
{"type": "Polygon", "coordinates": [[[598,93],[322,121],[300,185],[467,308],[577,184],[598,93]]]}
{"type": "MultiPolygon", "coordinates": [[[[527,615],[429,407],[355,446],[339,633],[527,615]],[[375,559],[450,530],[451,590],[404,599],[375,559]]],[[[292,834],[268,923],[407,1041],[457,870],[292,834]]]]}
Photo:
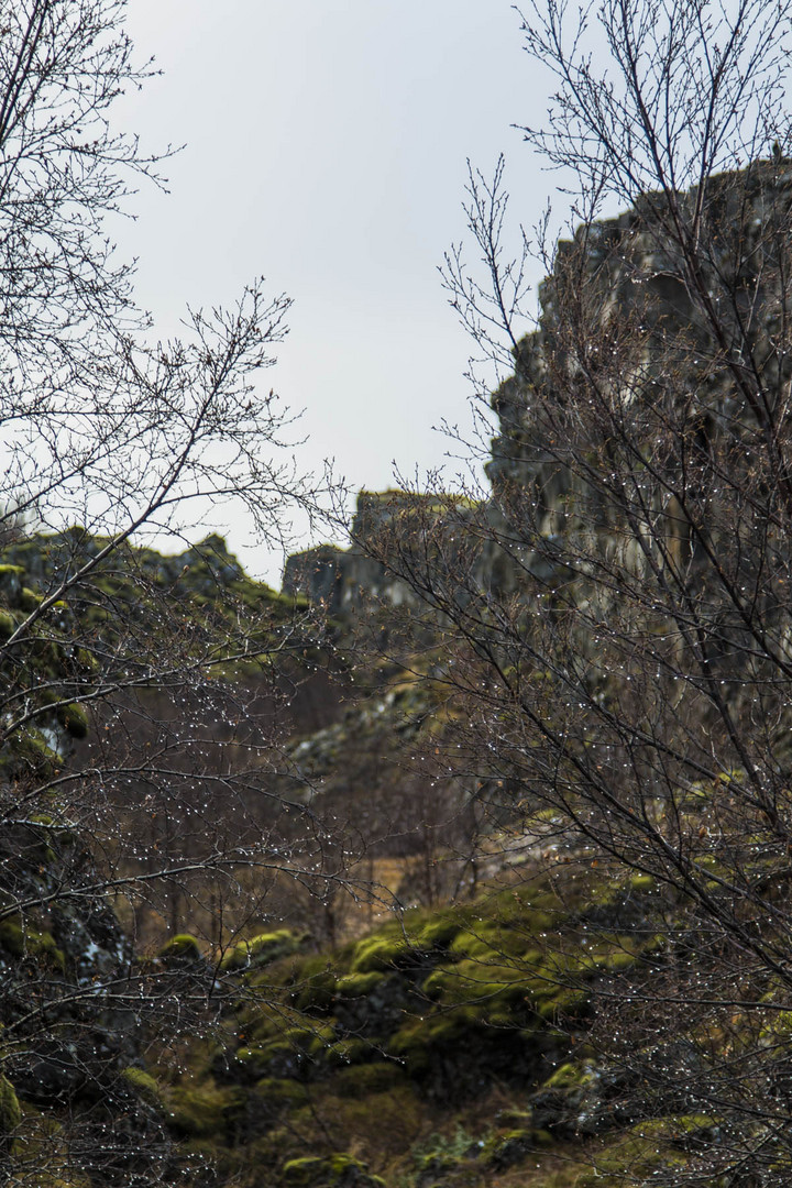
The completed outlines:
{"type": "MultiPolygon", "coordinates": [[[[540,119],[549,87],[518,13],[507,0],[129,0],[128,12],[139,57],[161,75],[123,99],[121,122],[145,148],[184,145],[170,192],[141,190],[118,235],[157,331],[177,333],[186,303],[233,303],[266,277],[294,302],[262,383],[304,410],[298,465],[332,459],[353,489],[392,486],[394,468],[445,465],[452,481],[445,455],[458,449],[436,426],[469,428],[471,345],[437,268],[464,236],[467,162],[489,175],[506,154],[515,223],[536,223],[553,191],[513,127],[540,119]]],[[[278,584],[283,557],[245,523],[205,526],[278,584]]]]}

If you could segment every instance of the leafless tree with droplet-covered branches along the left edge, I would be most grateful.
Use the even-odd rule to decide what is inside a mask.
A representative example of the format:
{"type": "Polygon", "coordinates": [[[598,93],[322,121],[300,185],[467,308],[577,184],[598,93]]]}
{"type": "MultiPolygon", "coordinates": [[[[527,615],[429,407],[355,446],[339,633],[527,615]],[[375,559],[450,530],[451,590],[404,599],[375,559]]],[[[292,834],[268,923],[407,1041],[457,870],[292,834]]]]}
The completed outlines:
{"type": "Polygon", "coordinates": [[[304,615],[222,541],[186,537],[233,500],[279,543],[327,476],[299,474],[291,415],[259,386],[287,298],[256,280],[166,343],[134,304],[108,236],[163,157],[110,122],[151,74],[125,7],[0,4],[0,1175],[15,1184],[175,1181],[142,1054],[217,1013],[214,946],[261,921],[299,833],[268,757],[306,671],[304,615]],[[114,909],[145,904],[166,934],[208,920],[208,943],[135,961],[114,909]]]}

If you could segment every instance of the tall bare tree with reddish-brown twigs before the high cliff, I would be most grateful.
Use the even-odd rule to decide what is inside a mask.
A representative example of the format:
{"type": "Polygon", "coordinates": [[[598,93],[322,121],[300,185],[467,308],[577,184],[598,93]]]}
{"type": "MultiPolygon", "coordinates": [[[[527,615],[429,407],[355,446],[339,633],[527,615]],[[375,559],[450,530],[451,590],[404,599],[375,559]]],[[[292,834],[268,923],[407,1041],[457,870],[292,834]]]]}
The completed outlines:
{"type": "Polygon", "coordinates": [[[461,249],[445,278],[479,343],[514,361],[492,400],[493,497],[449,499],[419,544],[380,542],[455,628],[469,775],[500,778],[514,811],[552,810],[562,855],[658,889],[659,906],[587,924],[629,937],[631,973],[581,975],[622,1118],[655,1151],[672,1139],[615,1173],[636,1182],[792,1180],[791,15],[685,0],[525,15],[557,81],[526,137],[571,173],[583,221],[545,252],[524,335],[502,171],[471,175],[484,280],[461,249]],[[606,202],[627,209],[597,221],[606,202]],[[683,1116],[709,1119],[692,1144],[683,1116]]]}

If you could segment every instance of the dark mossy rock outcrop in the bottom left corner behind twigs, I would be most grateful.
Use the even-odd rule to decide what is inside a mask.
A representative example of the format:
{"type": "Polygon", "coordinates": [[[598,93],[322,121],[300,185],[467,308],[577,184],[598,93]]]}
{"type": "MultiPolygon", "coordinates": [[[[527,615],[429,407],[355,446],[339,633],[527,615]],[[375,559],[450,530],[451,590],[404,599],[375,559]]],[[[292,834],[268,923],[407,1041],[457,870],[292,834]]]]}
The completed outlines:
{"type": "MultiPolygon", "coordinates": [[[[83,841],[42,815],[0,835],[0,1181],[154,1184],[142,982],[83,841]],[[147,1080],[146,1080],[147,1085],[147,1080]],[[145,1088],[145,1085],[144,1085],[145,1088]],[[80,1178],[71,1169],[80,1168],[80,1178]],[[88,1175],[88,1180],[83,1178],[88,1175]]],[[[151,1080],[148,1078],[148,1080],[151,1080]]]]}

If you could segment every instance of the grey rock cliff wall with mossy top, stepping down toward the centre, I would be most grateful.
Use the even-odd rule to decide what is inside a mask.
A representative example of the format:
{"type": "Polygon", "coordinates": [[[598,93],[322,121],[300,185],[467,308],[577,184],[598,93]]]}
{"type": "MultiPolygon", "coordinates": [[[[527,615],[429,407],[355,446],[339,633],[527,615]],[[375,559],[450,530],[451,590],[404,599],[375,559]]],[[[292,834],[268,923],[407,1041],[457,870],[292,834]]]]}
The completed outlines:
{"type": "MultiPolygon", "coordinates": [[[[792,353],[781,343],[792,206],[788,163],[758,162],[745,172],[709,178],[703,195],[692,190],[677,202],[672,211],[661,195],[646,195],[634,209],[582,226],[571,240],[558,244],[553,272],[539,290],[537,328],[514,353],[514,374],[492,397],[498,417],[487,466],[493,499],[473,518],[448,498],[435,500],[436,542],[443,522],[446,541],[454,532],[467,536],[469,544],[473,533],[477,536],[475,557],[468,548],[461,564],[463,582],[508,593],[521,588],[526,574],[551,579],[552,550],[521,548],[509,531],[512,522],[518,537],[551,542],[570,527],[570,507],[577,505],[585,507],[589,522],[600,519],[604,536],[612,532],[581,468],[566,463],[563,435],[569,426],[563,415],[552,418],[546,411],[551,405],[563,409],[574,388],[574,373],[582,366],[576,337],[588,335],[588,361],[600,368],[603,390],[632,386],[648,402],[684,407],[691,434],[703,443],[743,418],[741,369],[760,377],[754,384],[759,400],[764,391],[780,391],[788,383],[792,353]],[[698,228],[697,272],[680,246],[686,230],[679,233],[674,220],[698,228]],[[711,318],[718,322],[717,331],[711,318]],[[616,374],[619,368],[607,359],[620,350],[616,374]],[[530,533],[524,533],[526,514],[530,533]]],[[[647,421],[651,451],[652,432],[659,438],[658,425],[647,421]]],[[[658,440],[655,456],[663,450],[658,440]]],[[[666,454],[673,470],[678,457],[673,450],[666,454]]],[[[388,571],[386,554],[389,549],[397,571],[404,569],[405,537],[394,531],[394,523],[412,523],[406,536],[425,532],[431,503],[404,492],[361,493],[351,548],[323,546],[291,557],[284,590],[304,593],[331,614],[372,601],[417,605],[413,587],[388,571]]]]}

